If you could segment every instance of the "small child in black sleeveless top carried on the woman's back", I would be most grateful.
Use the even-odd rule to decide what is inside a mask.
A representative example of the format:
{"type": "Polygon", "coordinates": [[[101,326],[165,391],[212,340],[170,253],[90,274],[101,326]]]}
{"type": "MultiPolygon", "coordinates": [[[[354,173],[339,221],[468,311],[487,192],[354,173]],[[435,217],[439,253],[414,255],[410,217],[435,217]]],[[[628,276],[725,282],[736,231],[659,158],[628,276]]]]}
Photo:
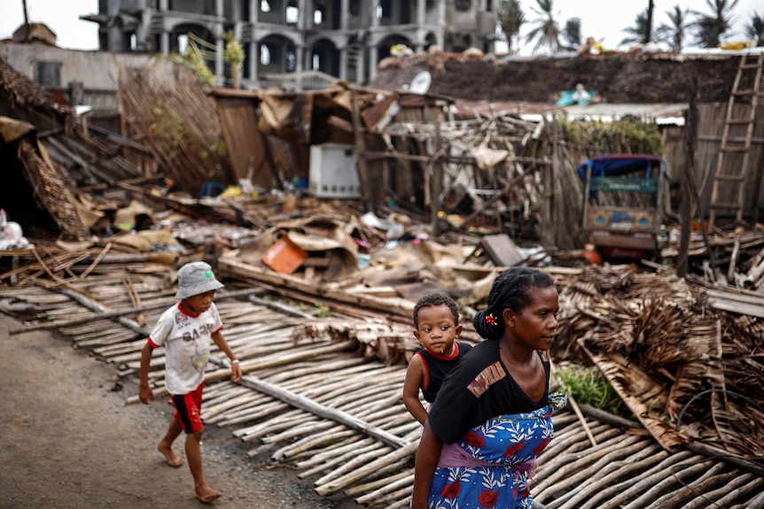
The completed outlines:
{"type": "Polygon", "coordinates": [[[414,337],[425,348],[409,361],[403,382],[403,405],[422,425],[427,420],[427,411],[419,400],[419,389],[427,403],[435,401],[448,371],[472,348],[469,343],[456,343],[460,334],[459,308],[454,299],[443,293],[431,293],[417,301],[414,337]]]}

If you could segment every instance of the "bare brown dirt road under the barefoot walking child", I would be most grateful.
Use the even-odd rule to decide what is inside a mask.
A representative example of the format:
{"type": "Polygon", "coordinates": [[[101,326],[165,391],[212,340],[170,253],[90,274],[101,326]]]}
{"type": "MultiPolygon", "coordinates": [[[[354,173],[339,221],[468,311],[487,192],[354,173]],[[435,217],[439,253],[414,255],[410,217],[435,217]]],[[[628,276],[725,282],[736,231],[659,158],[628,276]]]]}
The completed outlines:
{"type": "MultiPolygon", "coordinates": [[[[172,406],[125,405],[137,394],[113,366],[74,351],[48,332],[8,335],[20,323],[0,313],[0,508],[175,509],[203,507],[191,473],[168,467],[156,444],[172,406]]],[[[202,445],[207,482],[223,496],[217,509],[356,509],[319,497],[283,466],[246,455],[253,444],[208,427],[202,445]]],[[[183,459],[182,443],[175,452],[183,459]]]]}

